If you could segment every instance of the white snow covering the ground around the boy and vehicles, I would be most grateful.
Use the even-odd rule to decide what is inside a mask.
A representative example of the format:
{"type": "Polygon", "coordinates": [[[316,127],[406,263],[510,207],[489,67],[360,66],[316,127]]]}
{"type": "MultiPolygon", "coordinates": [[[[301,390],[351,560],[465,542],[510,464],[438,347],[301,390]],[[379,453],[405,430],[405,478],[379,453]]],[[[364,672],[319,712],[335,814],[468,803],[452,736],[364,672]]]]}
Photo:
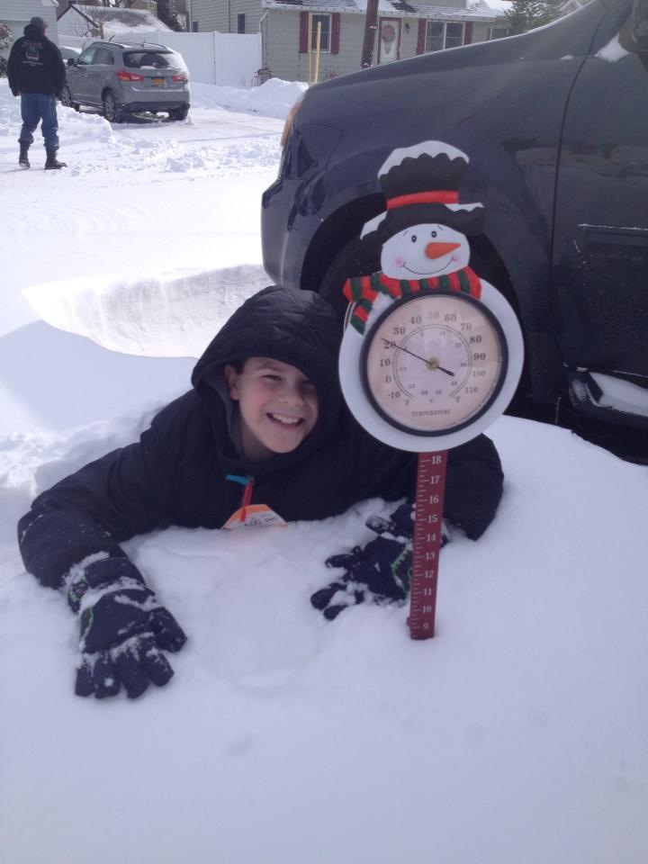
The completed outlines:
{"type": "Polygon", "coordinates": [[[73,695],[75,619],[23,572],[15,523],[184,392],[263,284],[284,113],[266,87],[257,113],[194,90],[179,124],[60,109],[69,168],[44,173],[40,142],[17,169],[0,81],[3,859],[643,864],[646,472],[561,428],[491,428],[504,499],[478,543],[444,549],[435,639],[410,640],[406,608],[310,606],[381,501],[170,528],[126,547],[189,635],[174,680],[73,695]]]}

